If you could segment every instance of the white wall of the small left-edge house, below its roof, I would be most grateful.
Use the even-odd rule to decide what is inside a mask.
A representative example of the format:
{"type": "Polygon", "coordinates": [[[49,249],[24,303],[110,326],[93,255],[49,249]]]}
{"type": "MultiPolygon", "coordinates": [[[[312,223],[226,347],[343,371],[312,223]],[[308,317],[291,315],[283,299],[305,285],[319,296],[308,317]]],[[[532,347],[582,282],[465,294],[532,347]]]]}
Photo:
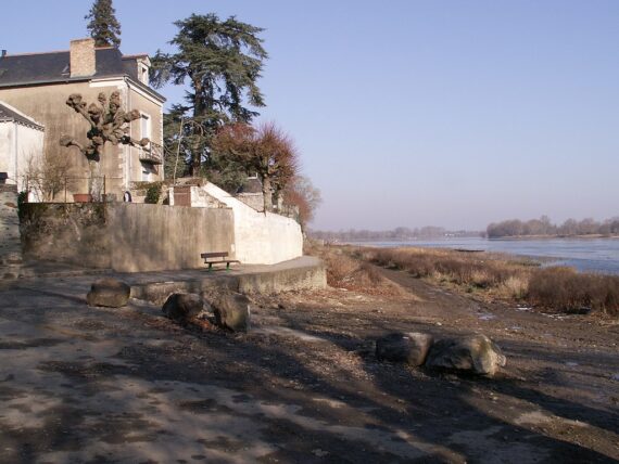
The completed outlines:
{"type": "Polygon", "coordinates": [[[0,121],[0,172],[7,172],[7,183],[24,188],[28,160],[40,160],[43,131],[13,120],[0,121]]]}

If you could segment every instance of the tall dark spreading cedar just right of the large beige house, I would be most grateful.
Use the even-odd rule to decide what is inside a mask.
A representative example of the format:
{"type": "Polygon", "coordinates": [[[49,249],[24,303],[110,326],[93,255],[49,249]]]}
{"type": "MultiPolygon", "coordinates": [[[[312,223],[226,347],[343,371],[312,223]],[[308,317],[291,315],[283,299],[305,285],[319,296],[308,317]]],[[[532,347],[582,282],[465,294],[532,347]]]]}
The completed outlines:
{"type": "Polygon", "coordinates": [[[176,105],[166,120],[172,125],[182,121],[176,130],[182,134],[180,151],[188,172],[199,176],[210,160],[210,142],[218,128],[227,123],[249,124],[258,113],[248,105],[264,106],[256,82],[267,53],[258,37],[263,29],[235,16],[220,21],[215,14],[192,14],[174,24],[179,30],[169,43],[176,52],[157,50],[151,83],[189,83],[187,105],[176,105]]]}

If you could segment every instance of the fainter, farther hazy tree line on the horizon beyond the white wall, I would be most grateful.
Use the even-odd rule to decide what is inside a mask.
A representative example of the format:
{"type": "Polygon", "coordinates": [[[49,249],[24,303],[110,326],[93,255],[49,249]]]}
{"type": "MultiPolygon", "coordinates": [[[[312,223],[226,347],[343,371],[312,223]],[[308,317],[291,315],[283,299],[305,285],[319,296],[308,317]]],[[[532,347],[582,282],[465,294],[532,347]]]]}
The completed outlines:
{"type": "Polygon", "coordinates": [[[426,225],[422,228],[409,229],[399,227],[388,231],[369,231],[355,230],[348,231],[310,231],[313,239],[325,240],[329,242],[405,242],[412,240],[444,239],[449,236],[479,236],[479,232],[471,231],[447,231],[444,228],[435,225],[426,225]]]}

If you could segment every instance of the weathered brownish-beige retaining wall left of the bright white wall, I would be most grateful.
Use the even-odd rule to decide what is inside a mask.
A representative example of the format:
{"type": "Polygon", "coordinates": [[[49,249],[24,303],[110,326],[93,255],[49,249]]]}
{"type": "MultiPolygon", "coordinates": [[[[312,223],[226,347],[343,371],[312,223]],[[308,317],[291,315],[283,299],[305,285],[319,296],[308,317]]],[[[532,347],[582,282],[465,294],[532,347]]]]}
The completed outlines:
{"type": "Polygon", "coordinates": [[[229,208],[130,203],[27,204],[26,258],[119,272],[201,268],[200,254],[233,256],[229,208]]]}

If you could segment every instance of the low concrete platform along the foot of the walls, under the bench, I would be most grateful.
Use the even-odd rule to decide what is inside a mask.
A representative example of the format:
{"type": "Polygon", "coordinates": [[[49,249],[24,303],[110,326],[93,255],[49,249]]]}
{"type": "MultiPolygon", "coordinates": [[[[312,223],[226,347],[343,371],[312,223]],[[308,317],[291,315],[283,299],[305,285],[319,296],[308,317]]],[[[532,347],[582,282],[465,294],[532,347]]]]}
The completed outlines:
{"type": "MultiPolygon", "coordinates": [[[[94,281],[101,276],[114,276],[131,286],[131,298],[156,305],[174,292],[201,293],[227,288],[240,293],[276,294],[280,292],[325,288],[327,276],[323,262],[313,256],[303,256],[277,265],[241,265],[230,270],[214,268],[212,271],[191,269],[181,271],[119,273],[109,269],[79,269],[50,262],[30,265],[28,274],[11,281],[21,286],[37,279],[70,279],[94,281]]],[[[7,282],[7,281],[5,281],[7,282]]]]}

